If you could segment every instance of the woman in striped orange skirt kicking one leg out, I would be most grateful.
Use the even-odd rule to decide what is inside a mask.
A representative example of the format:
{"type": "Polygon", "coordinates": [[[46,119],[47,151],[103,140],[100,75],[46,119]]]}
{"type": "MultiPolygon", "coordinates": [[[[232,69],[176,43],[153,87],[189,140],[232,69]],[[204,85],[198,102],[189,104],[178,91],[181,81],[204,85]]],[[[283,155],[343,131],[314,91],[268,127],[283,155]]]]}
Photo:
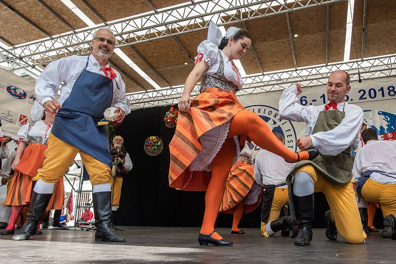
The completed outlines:
{"type": "Polygon", "coordinates": [[[230,246],[214,231],[225,190],[225,182],[235,157],[248,136],[261,148],[290,162],[313,159],[318,151],[299,153],[288,150],[265,121],[247,111],[235,92],[243,81],[233,60],[249,49],[250,36],[243,29],[230,27],[222,38],[210,22],[207,40],[198,46],[196,66],[188,76],[179,101],[176,132],[169,144],[169,185],[183,190],[206,190],[205,213],[198,236],[200,245],[230,246]],[[200,94],[190,94],[200,80],[200,94]]]}

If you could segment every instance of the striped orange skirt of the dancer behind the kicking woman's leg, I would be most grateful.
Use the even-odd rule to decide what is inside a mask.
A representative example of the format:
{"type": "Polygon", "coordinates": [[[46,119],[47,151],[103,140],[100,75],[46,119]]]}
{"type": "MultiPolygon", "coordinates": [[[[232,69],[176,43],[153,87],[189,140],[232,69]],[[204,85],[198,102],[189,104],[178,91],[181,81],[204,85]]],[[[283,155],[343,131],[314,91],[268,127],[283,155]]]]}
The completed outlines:
{"type": "Polygon", "coordinates": [[[245,213],[253,211],[261,202],[263,188],[254,180],[254,168],[238,160],[231,168],[219,212],[232,214],[234,207],[243,202],[245,213]]]}

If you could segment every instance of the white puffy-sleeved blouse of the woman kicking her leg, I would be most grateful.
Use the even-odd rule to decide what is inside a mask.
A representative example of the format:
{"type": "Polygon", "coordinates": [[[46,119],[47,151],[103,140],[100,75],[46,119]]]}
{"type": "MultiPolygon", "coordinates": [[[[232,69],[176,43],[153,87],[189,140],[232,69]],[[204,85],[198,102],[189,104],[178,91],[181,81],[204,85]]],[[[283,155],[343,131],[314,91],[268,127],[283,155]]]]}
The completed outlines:
{"type": "Polygon", "coordinates": [[[224,54],[222,50],[219,50],[216,44],[213,44],[209,40],[204,40],[198,45],[197,51],[198,56],[195,57],[195,60],[203,60],[209,65],[205,74],[213,74],[217,72],[220,66],[219,53],[221,52],[224,61],[224,77],[228,81],[231,81],[233,84],[237,85],[238,90],[242,89],[244,82],[242,81],[241,75],[239,74],[238,70],[233,67],[226,54],[224,54]]]}

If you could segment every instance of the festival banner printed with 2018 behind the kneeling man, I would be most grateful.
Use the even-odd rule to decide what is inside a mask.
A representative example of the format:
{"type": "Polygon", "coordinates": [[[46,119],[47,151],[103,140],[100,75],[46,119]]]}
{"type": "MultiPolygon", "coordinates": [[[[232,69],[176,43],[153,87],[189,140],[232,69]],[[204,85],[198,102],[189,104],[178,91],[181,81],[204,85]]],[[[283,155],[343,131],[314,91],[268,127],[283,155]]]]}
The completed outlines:
{"type": "MultiPolygon", "coordinates": [[[[354,81],[346,96],[348,103],[356,104],[363,110],[363,122],[373,128],[383,140],[396,139],[396,79],[379,78],[354,81]]],[[[283,90],[238,96],[249,111],[259,115],[273,132],[285,137],[286,147],[297,151],[296,141],[304,135],[305,123],[287,121],[279,114],[279,99],[283,90]]],[[[297,96],[297,103],[322,105],[327,103],[326,86],[303,87],[297,96]]],[[[254,146],[254,154],[260,150],[254,146]]],[[[253,154],[253,156],[255,156],[253,154]]]]}

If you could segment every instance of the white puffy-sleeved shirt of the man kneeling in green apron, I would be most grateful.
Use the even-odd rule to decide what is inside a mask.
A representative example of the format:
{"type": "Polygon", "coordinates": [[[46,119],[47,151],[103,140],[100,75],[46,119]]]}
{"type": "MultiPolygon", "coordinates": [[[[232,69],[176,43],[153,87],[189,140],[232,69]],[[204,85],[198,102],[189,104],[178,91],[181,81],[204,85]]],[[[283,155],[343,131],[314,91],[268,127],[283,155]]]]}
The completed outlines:
{"type": "Polygon", "coordinates": [[[344,108],[345,111],[345,118],[340,125],[327,132],[312,134],[319,113],[324,111],[325,105],[302,106],[297,100],[297,86],[286,88],[279,100],[279,113],[283,119],[305,122],[305,135],[311,137],[313,147],[322,155],[336,156],[351,145],[352,149],[357,148],[360,139],[359,130],[363,122],[363,111],[359,106],[347,102],[339,103],[337,108],[340,111],[344,108]]]}

